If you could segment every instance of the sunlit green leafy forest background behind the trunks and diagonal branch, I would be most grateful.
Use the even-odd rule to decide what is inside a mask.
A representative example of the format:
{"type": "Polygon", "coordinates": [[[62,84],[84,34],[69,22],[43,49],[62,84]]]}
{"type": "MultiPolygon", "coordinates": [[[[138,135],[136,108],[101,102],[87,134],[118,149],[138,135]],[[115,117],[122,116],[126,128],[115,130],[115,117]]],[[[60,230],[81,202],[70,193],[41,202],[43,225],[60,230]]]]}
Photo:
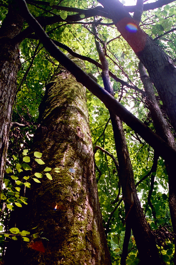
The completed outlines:
{"type": "MultiPolygon", "coordinates": [[[[17,2],[19,5],[22,5],[20,1],[17,2]]],[[[103,4],[105,0],[99,2],[103,4]]],[[[109,2],[113,6],[114,1],[109,2]]],[[[38,19],[38,21],[45,32],[47,32],[48,36],[64,54],[69,52],[73,56],[84,60],[84,70],[89,73],[89,77],[93,78],[99,86],[105,86],[105,84],[107,84],[102,78],[101,70],[103,69],[105,72],[105,70],[108,69],[105,69],[103,60],[104,62],[108,62],[110,83],[113,87],[113,96],[115,99],[120,102],[122,106],[130,110],[132,114],[147,125],[153,132],[158,133],[160,137],[166,140],[166,137],[161,133],[160,127],[157,127],[156,120],[159,118],[155,115],[155,117],[152,116],[152,107],[150,105],[153,105],[154,109],[161,112],[161,115],[167,123],[167,130],[170,132],[168,134],[172,134],[172,136],[170,136],[173,137],[171,142],[173,141],[174,137],[176,137],[174,129],[175,123],[171,118],[170,120],[168,118],[169,114],[167,110],[169,107],[167,106],[167,102],[163,103],[164,100],[159,91],[156,90],[156,85],[153,87],[151,82],[152,80],[153,83],[156,83],[154,79],[156,77],[158,78],[158,76],[154,77],[149,73],[151,77],[150,84],[146,83],[147,80],[149,81],[149,78],[142,64],[139,64],[138,57],[140,56],[138,56],[138,51],[135,50],[133,45],[131,45],[133,49],[130,47],[131,40],[128,39],[128,36],[125,40],[123,32],[120,32],[120,28],[118,31],[115,27],[115,25],[117,26],[117,21],[113,19],[114,14],[112,10],[109,11],[106,6],[106,14],[104,14],[103,12],[105,11],[98,2],[84,0],[44,2],[31,0],[26,1],[26,3],[30,13],[34,17],[50,18],[52,22],[48,22],[49,20],[47,21],[47,19],[38,19]],[[96,9],[97,5],[98,8],[96,9]],[[89,12],[91,12],[90,10],[87,12],[88,8],[93,10],[92,14],[89,14],[89,12]],[[52,18],[54,18],[55,21],[54,19],[52,20],[52,18]],[[103,60],[101,56],[103,56],[103,60]],[[150,98],[151,94],[149,90],[147,90],[149,86],[153,87],[154,98],[156,100],[155,103],[152,101],[153,99],[150,98]]],[[[138,30],[139,24],[139,27],[154,40],[153,42],[166,52],[174,64],[176,58],[175,2],[158,0],[154,3],[147,3],[146,1],[137,1],[136,9],[131,6],[126,9],[126,12],[130,12],[131,15],[136,11],[135,16],[141,21],[140,24],[136,23],[136,26],[134,24],[131,25],[132,28],[129,27],[128,32],[130,34],[135,33],[138,30]],[[141,8],[143,12],[141,12],[141,8]]],[[[122,4],[126,5],[125,1],[122,1],[122,4]]],[[[13,1],[0,1],[0,20],[2,21],[2,25],[8,12],[11,12],[11,8],[13,10],[14,5],[13,1]]],[[[17,12],[21,12],[21,10],[17,8],[17,12]]],[[[27,22],[29,23],[29,21],[27,22]]],[[[16,239],[20,237],[25,244],[28,244],[28,241],[35,238],[35,236],[31,236],[27,233],[27,229],[24,230],[26,233],[23,232],[20,234],[20,230],[16,227],[12,229],[9,223],[11,213],[13,211],[15,212],[14,209],[17,207],[23,208],[23,205],[27,204],[27,197],[20,196],[21,186],[25,186],[26,189],[29,189],[30,186],[33,185],[33,182],[40,183],[40,175],[35,175],[36,178],[33,176],[33,180],[32,178],[28,180],[28,176],[23,176],[21,178],[20,173],[22,169],[26,171],[31,169],[30,163],[29,165],[27,164],[30,162],[27,153],[31,152],[31,143],[36,129],[41,127],[38,120],[38,108],[44,98],[45,86],[50,79],[54,77],[59,65],[59,62],[56,60],[57,58],[53,58],[53,54],[50,55],[50,50],[44,47],[45,45],[41,37],[39,37],[39,41],[38,32],[34,34],[33,30],[28,27],[27,22],[21,23],[23,31],[21,33],[16,33],[16,36],[12,36],[13,34],[9,34],[10,37],[5,36],[3,35],[3,28],[1,29],[1,45],[4,45],[4,41],[6,42],[5,38],[16,38],[13,39],[13,41],[16,41],[16,43],[20,45],[19,47],[15,47],[17,51],[16,60],[20,59],[21,61],[21,67],[18,67],[17,84],[14,85],[14,87],[16,87],[14,90],[14,105],[13,99],[11,103],[13,105],[12,120],[10,116],[6,119],[11,128],[10,133],[7,132],[7,135],[9,133],[9,145],[7,145],[6,171],[4,173],[1,193],[2,233],[0,244],[2,262],[7,247],[6,241],[9,239],[11,241],[16,241],[16,239]]],[[[3,50],[1,53],[2,52],[3,50]]],[[[146,52],[146,57],[147,56],[149,55],[147,55],[146,52]]],[[[162,64],[158,58],[157,60],[156,68],[158,64],[162,64]]],[[[145,60],[142,61],[142,63],[145,65],[145,60]]],[[[147,64],[146,62],[146,65],[147,64]]],[[[67,68],[65,65],[63,66],[67,68]]],[[[167,71],[165,71],[165,75],[166,78],[169,78],[167,77],[167,71]]],[[[89,87],[87,88],[89,89],[89,87]]],[[[94,90],[94,88],[92,88],[92,90],[94,90]]],[[[174,83],[173,90],[175,91],[174,83]]],[[[122,183],[119,180],[119,174],[121,173],[118,172],[118,163],[120,163],[120,159],[117,159],[117,148],[115,147],[114,132],[109,111],[106,108],[107,106],[105,107],[100,100],[101,96],[99,99],[92,94],[92,92],[93,91],[90,92],[89,90],[86,91],[87,108],[89,111],[89,123],[94,149],[99,201],[112,264],[139,264],[139,249],[138,246],[136,246],[135,237],[133,232],[131,232],[132,227],[130,225],[130,222],[133,222],[130,218],[133,218],[133,216],[128,218],[134,206],[132,203],[129,207],[125,207],[124,205],[127,199],[124,195],[122,196],[122,183]],[[128,231],[127,227],[129,228],[128,231]],[[122,251],[123,248],[124,250],[122,251]],[[123,252],[125,253],[123,255],[125,256],[125,261],[121,260],[123,252]]],[[[95,92],[96,95],[97,93],[98,92],[95,92]]],[[[174,96],[173,104],[175,104],[174,96]]],[[[110,109],[110,112],[112,112],[112,109],[110,109]]],[[[128,113],[126,115],[128,115],[128,113]]],[[[122,117],[121,119],[123,120],[122,117]]],[[[129,119],[131,119],[131,116],[129,119]]],[[[131,122],[135,123],[133,120],[131,120],[131,122]]],[[[160,120],[159,123],[161,124],[160,120]]],[[[167,169],[170,168],[173,175],[175,174],[175,157],[170,151],[170,156],[174,157],[173,160],[171,160],[173,168],[169,165],[169,162],[165,164],[166,158],[164,158],[163,153],[160,152],[163,146],[160,145],[158,149],[156,147],[155,150],[155,145],[152,145],[145,137],[143,139],[137,129],[135,130],[132,126],[130,127],[128,125],[123,122],[126,143],[137,187],[136,194],[138,194],[143,213],[149,224],[146,229],[150,228],[152,235],[155,236],[156,245],[162,262],[174,264],[175,233],[172,227],[173,219],[170,216],[169,210],[167,169]]],[[[42,130],[45,130],[45,127],[42,127],[42,130]]],[[[146,134],[148,134],[148,131],[146,131],[146,134]]],[[[150,138],[150,134],[148,137],[150,138]]],[[[166,142],[169,143],[168,140],[166,142]]],[[[156,145],[157,144],[159,145],[159,143],[156,143],[156,145]]],[[[175,140],[174,144],[170,145],[175,150],[175,140]]],[[[1,145],[1,147],[2,146],[3,145],[1,145]]],[[[165,152],[165,150],[163,152],[165,152]]],[[[168,157],[170,158],[170,156],[168,157]]],[[[40,158],[43,160],[44,158],[41,157],[40,152],[35,153],[35,157],[39,162],[38,164],[42,164],[40,158]]],[[[47,167],[50,168],[50,165],[47,164],[47,167]]],[[[59,169],[56,168],[55,171],[57,170],[59,171],[59,169]]],[[[47,174],[50,185],[52,185],[52,174],[47,174]]],[[[60,173],[58,172],[58,174],[60,173]]],[[[126,182],[125,185],[128,186],[128,183],[126,182]]],[[[140,216],[138,216],[138,219],[140,219],[140,216]]],[[[47,242],[47,238],[45,237],[43,237],[42,240],[47,242]]],[[[143,248],[145,248],[144,242],[141,242],[141,248],[142,244],[144,244],[143,248]]],[[[42,252],[42,250],[40,252],[42,252]]]]}

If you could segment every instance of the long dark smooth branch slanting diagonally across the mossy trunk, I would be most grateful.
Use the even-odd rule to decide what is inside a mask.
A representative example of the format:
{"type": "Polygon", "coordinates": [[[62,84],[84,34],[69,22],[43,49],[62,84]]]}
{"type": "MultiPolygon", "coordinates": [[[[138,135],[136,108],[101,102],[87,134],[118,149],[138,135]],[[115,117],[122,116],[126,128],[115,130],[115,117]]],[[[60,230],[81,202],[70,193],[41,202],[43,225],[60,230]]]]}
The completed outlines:
{"type": "Polygon", "coordinates": [[[149,127],[142,123],[132,113],[130,113],[123,105],[121,105],[113,96],[111,96],[103,87],[99,86],[88,74],[86,74],[78,65],[70,60],[53,41],[45,33],[41,25],[30,14],[24,0],[18,0],[21,13],[25,20],[30,24],[35,33],[40,38],[43,46],[59,63],[61,63],[69,72],[75,76],[76,80],[82,83],[89,89],[95,96],[97,96],[106,108],[124,121],[131,127],[137,134],[139,134],[152,148],[156,149],[163,158],[170,158],[174,163],[176,160],[176,152],[157,134],[155,134],[149,127]]]}

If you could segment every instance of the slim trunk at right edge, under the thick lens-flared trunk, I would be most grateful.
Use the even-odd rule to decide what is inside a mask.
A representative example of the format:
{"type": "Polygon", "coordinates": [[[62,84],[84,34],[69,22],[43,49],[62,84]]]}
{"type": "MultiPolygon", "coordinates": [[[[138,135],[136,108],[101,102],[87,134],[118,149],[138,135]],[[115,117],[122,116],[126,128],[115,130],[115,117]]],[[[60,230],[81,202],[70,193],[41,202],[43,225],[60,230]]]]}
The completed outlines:
{"type": "MultiPolygon", "coordinates": [[[[169,123],[165,120],[163,113],[155,98],[153,84],[147,75],[144,65],[139,63],[139,72],[146,93],[146,103],[150,110],[154,122],[156,133],[163,138],[174,150],[176,148],[174,136],[169,128],[169,123]]],[[[175,164],[169,159],[165,159],[166,170],[169,180],[169,209],[172,220],[174,234],[176,234],[176,187],[175,187],[175,164]]],[[[174,257],[176,263],[176,256],[174,257]]]]}

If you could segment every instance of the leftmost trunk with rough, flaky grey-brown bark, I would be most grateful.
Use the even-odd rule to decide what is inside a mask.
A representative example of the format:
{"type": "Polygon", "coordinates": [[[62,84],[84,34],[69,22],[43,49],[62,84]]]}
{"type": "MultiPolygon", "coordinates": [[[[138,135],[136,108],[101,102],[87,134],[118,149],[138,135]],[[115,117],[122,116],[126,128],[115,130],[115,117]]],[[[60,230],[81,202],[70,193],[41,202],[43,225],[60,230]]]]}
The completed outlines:
{"type": "Polygon", "coordinates": [[[0,28],[0,193],[6,163],[12,106],[15,98],[17,72],[20,69],[18,44],[11,39],[22,29],[23,19],[16,6],[9,5],[0,28]]]}

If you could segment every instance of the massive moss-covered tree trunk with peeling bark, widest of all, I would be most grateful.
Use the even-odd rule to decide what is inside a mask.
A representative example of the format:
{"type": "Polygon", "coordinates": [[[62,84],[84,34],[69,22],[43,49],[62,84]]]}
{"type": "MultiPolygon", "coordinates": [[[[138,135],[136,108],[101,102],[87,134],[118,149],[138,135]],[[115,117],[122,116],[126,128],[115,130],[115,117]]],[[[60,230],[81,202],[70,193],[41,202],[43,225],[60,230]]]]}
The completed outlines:
{"type": "MultiPolygon", "coordinates": [[[[76,62],[83,64],[79,59],[76,62]]],[[[20,217],[23,227],[20,223],[16,227],[26,230],[28,224],[31,233],[43,232],[41,237],[49,241],[42,240],[43,252],[34,249],[40,238],[29,244],[23,241],[18,264],[110,265],[94,172],[85,87],[59,68],[46,86],[39,111],[41,125],[47,130],[38,130],[33,151],[43,153],[45,165],[34,164],[33,173],[41,172],[45,166],[58,167],[60,173],[52,170],[53,180],[44,175],[41,184],[32,182],[27,215],[23,220],[20,217]],[[31,230],[36,226],[35,231],[31,230]]],[[[9,246],[6,264],[12,262],[11,251],[9,246]]],[[[16,251],[19,254],[20,250],[16,251]]]]}

